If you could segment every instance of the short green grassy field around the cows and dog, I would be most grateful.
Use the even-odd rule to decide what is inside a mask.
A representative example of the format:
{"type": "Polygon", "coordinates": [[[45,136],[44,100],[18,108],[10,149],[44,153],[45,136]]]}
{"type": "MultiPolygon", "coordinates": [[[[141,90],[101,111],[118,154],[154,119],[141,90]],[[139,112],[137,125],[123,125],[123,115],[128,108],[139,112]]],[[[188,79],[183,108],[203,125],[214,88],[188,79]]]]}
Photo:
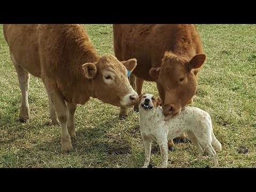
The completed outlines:
{"type": "MultiPolygon", "coordinates": [[[[99,54],[113,53],[112,25],[85,25],[99,54]]],[[[49,105],[41,79],[30,78],[30,123],[17,121],[21,93],[0,25],[0,167],[141,167],[143,143],[138,113],[119,120],[119,108],[91,99],[78,106],[77,140],[61,154],[60,126],[49,125],[49,105]]],[[[256,25],[198,25],[207,61],[199,74],[193,106],[210,113],[220,167],[256,167],[256,25]]],[[[157,95],[155,83],[143,92],[157,95]]],[[[213,166],[191,143],[176,143],[169,167],[213,166]]],[[[151,163],[161,163],[153,145],[151,163]]]]}

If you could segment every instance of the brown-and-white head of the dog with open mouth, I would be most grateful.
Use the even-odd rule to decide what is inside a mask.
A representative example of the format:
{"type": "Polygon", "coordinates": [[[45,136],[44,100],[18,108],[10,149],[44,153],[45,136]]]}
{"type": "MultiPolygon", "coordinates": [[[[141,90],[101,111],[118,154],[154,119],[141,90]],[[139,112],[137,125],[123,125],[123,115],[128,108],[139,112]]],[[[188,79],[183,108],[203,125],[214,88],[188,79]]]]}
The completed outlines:
{"type": "Polygon", "coordinates": [[[141,94],[139,101],[140,110],[155,110],[158,106],[162,106],[162,99],[153,94],[141,94]]]}

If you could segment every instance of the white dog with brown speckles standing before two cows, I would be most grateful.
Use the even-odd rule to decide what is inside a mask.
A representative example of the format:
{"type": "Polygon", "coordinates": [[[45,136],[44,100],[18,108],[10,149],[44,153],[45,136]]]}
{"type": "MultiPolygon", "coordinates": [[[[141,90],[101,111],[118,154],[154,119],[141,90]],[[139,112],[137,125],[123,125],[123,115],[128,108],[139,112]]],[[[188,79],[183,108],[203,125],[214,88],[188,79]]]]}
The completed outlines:
{"type": "Polygon", "coordinates": [[[168,164],[168,141],[187,132],[190,141],[198,148],[202,158],[204,149],[209,153],[215,166],[219,166],[217,155],[212,145],[221,151],[221,143],[215,138],[210,115],[196,107],[185,107],[181,113],[164,121],[165,115],[161,106],[162,100],[153,94],[140,95],[139,122],[140,133],[145,148],[145,164],[148,167],[151,153],[151,141],[159,145],[162,167],[168,164]]]}

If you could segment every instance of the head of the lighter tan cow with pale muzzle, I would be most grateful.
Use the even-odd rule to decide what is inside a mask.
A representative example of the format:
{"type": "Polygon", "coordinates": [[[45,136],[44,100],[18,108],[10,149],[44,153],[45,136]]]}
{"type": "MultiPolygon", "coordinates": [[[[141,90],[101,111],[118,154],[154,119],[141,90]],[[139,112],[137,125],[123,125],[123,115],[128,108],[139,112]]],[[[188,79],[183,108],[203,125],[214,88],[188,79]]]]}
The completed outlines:
{"type": "Polygon", "coordinates": [[[127,78],[127,69],[137,66],[136,59],[118,61],[113,55],[103,55],[96,63],[85,63],[85,77],[91,79],[93,95],[103,102],[118,107],[132,107],[139,96],[127,78]]]}

